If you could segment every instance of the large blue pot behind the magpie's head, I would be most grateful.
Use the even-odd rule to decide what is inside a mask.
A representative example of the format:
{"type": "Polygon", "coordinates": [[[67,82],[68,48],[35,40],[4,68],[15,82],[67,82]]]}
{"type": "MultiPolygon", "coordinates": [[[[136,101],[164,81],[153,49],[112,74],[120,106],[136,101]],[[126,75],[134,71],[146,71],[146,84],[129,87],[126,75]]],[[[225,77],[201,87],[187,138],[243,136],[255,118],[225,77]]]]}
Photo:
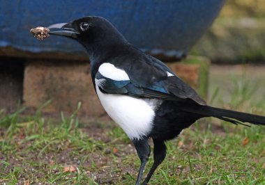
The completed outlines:
{"type": "Polygon", "coordinates": [[[87,15],[108,19],[136,47],[151,54],[186,54],[211,26],[225,0],[0,1],[0,47],[33,53],[84,53],[74,40],[36,40],[29,29],[87,15]]]}

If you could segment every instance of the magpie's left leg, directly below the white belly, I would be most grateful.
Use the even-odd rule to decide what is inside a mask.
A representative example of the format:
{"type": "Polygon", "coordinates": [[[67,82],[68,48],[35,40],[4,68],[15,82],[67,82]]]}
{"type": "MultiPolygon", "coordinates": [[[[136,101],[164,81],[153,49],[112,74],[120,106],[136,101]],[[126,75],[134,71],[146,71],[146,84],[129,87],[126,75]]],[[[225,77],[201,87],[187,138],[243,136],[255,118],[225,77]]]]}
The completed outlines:
{"type": "Polygon", "coordinates": [[[135,145],[135,149],[141,160],[141,166],[139,168],[138,176],[135,185],[141,184],[142,175],[144,172],[144,166],[149,159],[150,156],[150,146],[148,144],[148,138],[140,139],[140,140],[132,140],[132,143],[135,145]]]}

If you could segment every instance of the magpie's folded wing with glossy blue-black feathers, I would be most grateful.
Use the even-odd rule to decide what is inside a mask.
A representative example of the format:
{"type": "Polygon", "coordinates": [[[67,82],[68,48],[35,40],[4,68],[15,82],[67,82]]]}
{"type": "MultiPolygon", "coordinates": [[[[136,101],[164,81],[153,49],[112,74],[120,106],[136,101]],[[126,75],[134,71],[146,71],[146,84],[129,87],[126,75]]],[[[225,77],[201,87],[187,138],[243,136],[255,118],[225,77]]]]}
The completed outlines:
{"type": "MultiPolygon", "coordinates": [[[[95,81],[103,93],[175,101],[192,99],[198,104],[205,104],[204,100],[197,95],[195,90],[190,88],[179,77],[176,77],[165,64],[162,64],[162,67],[159,67],[160,63],[156,65],[141,63],[141,67],[137,66],[137,64],[139,63],[123,65],[121,67],[124,74],[128,75],[124,75],[126,76],[123,76],[124,79],[108,77],[108,75],[101,74],[99,70],[95,81]]],[[[105,73],[104,70],[102,72],[105,73]]],[[[118,74],[119,72],[117,71],[116,73],[118,74]]]]}

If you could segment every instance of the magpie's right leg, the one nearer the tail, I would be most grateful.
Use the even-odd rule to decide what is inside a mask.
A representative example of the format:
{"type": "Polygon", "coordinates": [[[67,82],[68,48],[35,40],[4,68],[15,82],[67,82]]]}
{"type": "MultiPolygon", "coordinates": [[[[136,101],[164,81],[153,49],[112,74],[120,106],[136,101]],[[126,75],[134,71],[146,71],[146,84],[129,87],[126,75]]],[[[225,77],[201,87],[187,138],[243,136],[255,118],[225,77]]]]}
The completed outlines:
{"type": "Polygon", "coordinates": [[[153,172],[156,168],[164,161],[167,154],[167,147],[165,146],[164,140],[153,139],[153,166],[150,169],[148,175],[144,179],[143,184],[147,184],[151,179],[153,172]]]}

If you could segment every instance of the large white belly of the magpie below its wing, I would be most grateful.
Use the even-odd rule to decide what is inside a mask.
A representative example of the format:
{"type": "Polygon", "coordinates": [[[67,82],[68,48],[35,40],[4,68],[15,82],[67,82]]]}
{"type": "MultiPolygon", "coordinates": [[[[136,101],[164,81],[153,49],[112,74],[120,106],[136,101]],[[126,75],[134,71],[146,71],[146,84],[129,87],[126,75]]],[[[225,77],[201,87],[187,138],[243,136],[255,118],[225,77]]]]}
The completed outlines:
{"type": "Polygon", "coordinates": [[[104,94],[98,86],[96,86],[96,92],[107,114],[119,124],[130,139],[139,139],[150,133],[155,117],[155,107],[144,99],[104,94]]]}

